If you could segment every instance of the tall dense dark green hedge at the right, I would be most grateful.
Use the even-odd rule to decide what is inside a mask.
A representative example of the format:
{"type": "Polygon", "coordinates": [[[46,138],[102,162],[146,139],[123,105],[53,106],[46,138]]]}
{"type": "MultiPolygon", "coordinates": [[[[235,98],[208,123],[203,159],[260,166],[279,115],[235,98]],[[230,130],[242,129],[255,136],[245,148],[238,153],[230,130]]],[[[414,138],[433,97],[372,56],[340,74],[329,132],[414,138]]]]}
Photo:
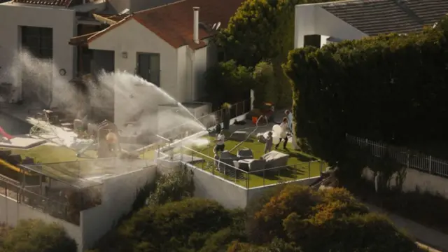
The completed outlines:
{"type": "Polygon", "coordinates": [[[401,145],[448,140],[447,23],[290,51],[283,70],[302,149],[331,160],[346,133],[401,145]]]}

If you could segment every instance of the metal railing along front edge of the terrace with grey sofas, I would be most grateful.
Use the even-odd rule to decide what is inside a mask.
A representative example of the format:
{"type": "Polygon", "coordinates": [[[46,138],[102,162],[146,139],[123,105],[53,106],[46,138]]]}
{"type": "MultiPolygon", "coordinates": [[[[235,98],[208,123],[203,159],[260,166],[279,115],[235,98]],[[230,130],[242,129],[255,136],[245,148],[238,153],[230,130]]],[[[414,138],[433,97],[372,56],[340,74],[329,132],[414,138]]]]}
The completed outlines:
{"type": "MultiPolygon", "coordinates": [[[[300,162],[294,165],[246,171],[186,146],[181,147],[181,155],[184,156],[182,158],[184,162],[245,188],[307,179],[318,176],[323,171],[323,163],[320,161],[300,162]]],[[[237,160],[235,161],[237,162],[237,160]]]]}

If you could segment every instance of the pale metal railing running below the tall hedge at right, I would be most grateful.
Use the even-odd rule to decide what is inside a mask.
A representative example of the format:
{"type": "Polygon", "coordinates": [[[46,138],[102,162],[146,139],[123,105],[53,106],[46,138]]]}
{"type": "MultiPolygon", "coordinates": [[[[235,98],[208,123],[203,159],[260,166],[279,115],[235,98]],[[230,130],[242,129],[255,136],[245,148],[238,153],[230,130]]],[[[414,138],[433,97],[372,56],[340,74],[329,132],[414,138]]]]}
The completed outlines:
{"type": "Polygon", "coordinates": [[[448,178],[448,160],[434,158],[431,155],[419,154],[407,148],[399,148],[349,134],[346,134],[346,141],[360,147],[370,148],[372,155],[375,157],[381,157],[388,151],[391,158],[401,165],[406,165],[407,168],[418,169],[421,172],[428,172],[429,174],[448,178]]]}

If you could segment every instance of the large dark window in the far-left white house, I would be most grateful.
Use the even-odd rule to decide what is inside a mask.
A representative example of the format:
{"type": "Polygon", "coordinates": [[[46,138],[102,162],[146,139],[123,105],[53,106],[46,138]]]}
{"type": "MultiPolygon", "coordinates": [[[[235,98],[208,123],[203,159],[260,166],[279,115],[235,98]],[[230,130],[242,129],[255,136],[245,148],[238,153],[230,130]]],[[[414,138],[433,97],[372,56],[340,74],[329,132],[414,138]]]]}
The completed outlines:
{"type": "Polygon", "coordinates": [[[53,56],[52,28],[22,27],[22,48],[31,52],[34,57],[51,59],[53,56]]]}

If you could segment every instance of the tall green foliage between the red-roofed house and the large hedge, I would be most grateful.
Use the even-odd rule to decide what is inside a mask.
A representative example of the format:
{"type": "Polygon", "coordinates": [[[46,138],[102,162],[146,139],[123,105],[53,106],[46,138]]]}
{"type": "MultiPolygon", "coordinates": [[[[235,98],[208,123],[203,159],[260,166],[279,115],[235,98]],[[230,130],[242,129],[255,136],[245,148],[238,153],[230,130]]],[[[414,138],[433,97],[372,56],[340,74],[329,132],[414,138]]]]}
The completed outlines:
{"type": "MultiPolygon", "coordinates": [[[[295,5],[325,1],[332,0],[246,0],[230,19],[228,27],[221,29],[214,38],[224,60],[232,64],[256,70],[255,66],[260,62],[272,62],[269,67],[272,68],[275,88],[258,85],[255,97],[259,102],[272,102],[279,108],[292,103],[290,83],[281,64],[286,62],[288,51],[294,47],[295,5]]],[[[214,87],[212,83],[219,82],[216,78],[207,81],[210,88],[214,87]]],[[[229,89],[228,92],[234,94],[243,87],[246,88],[246,85],[229,89]]],[[[232,94],[226,97],[232,97],[232,94]]]]}

